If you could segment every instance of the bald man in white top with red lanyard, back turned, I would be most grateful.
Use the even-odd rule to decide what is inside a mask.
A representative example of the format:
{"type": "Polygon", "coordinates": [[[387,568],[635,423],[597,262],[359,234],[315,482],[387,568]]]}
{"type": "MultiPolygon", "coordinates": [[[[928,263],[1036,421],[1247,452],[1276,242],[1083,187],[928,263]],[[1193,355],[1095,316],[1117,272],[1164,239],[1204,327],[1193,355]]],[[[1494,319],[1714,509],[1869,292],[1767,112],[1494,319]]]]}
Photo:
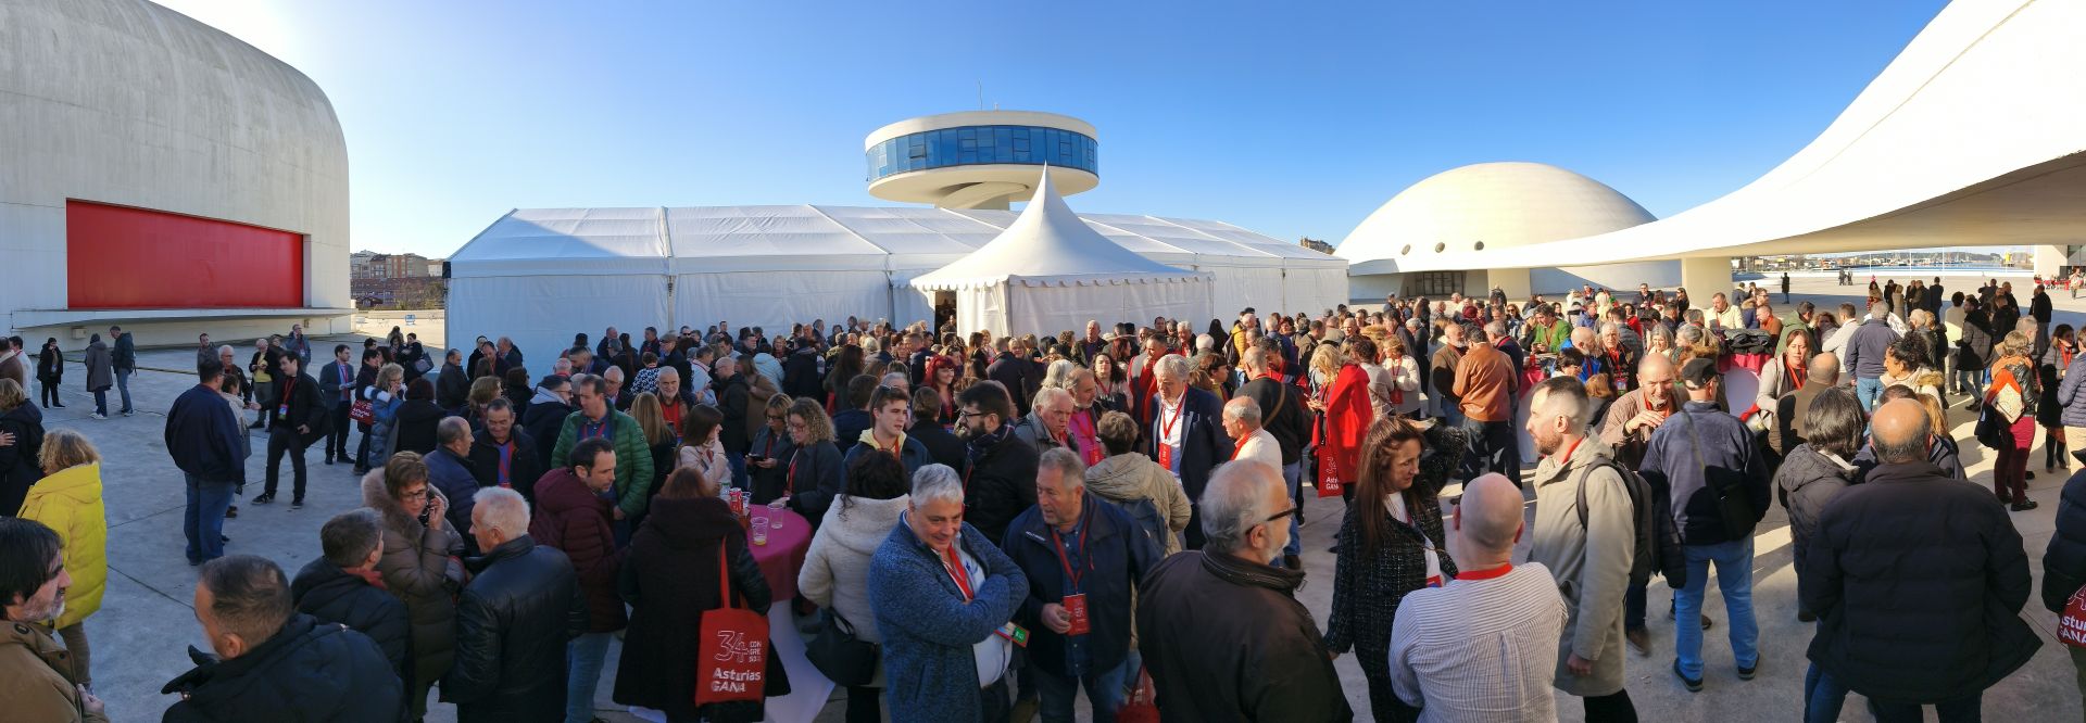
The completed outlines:
{"type": "Polygon", "coordinates": [[[1498,710],[1556,719],[1550,679],[1564,598],[1542,563],[1512,563],[1521,506],[1521,488],[1500,473],[1464,485],[1448,540],[1456,579],[1414,590],[1398,604],[1391,685],[1429,719],[1477,721],[1498,710]]]}

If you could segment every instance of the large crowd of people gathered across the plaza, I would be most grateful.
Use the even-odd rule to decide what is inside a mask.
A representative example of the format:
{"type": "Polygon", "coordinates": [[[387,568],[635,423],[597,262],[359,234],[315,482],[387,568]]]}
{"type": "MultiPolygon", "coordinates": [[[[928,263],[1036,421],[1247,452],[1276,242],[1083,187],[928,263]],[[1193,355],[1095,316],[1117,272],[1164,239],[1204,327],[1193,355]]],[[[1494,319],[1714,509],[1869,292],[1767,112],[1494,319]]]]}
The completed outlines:
{"type": "MultiPolygon", "coordinates": [[[[1975,719],[2040,644],[2007,504],[2036,504],[2036,427],[2044,471],[2086,450],[2086,377],[2040,285],[2026,315],[2011,283],[1942,294],[1871,283],[1863,308],[1777,313],[1761,288],[1702,306],[1494,290],[1018,338],[720,321],[578,333],[534,371],[507,338],[434,358],[394,329],[317,365],[300,329],[246,365],[200,338],[165,444],[211,650],[167,683],[165,717],[419,719],[438,688],[463,721],[586,723],[620,635],[611,700],[753,721],[757,700],[697,702],[703,615],[741,606],[816,629],[849,721],[1070,721],[1081,692],[1095,721],[1345,721],[1348,652],[1377,721],[1554,719],[1554,692],[1635,721],[1625,650],[1652,654],[1654,577],[1679,685],[1708,685],[1711,575],[1731,673],[1758,673],[1752,538],[1779,502],[1817,625],[1802,717],[1859,692],[1882,721],[1975,719]],[[1990,496],[1965,483],[1950,394],[1994,448],[1990,496]],[[275,500],[284,456],[305,504],[311,444],[361,479],[363,506],[294,573],[225,554],[254,431],[250,506],[275,500]],[[1325,627],[1295,598],[1306,494],[1345,502],[1325,627]],[[772,604],[734,498],[809,521],[799,600],[772,604]]],[[[88,346],[90,390],[96,365],[119,388],[136,369],[111,335],[113,354],[88,346]]],[[[8,346],[0,371],[23,365],[8,346]]],[[[40,719],[98,719],[98,454],[44,433],[25,390],[0,375],[0,502],[21,508],[0,521],[0,644],[35,656],[0,658],[0,685],[65,710],[40,719]]],[[[2044,558],[2059,613],[2086,583],[2073,496],[2086,473],[2044,558]]],[[[770,656],[766,696],[786,677],[770,656]]]]}

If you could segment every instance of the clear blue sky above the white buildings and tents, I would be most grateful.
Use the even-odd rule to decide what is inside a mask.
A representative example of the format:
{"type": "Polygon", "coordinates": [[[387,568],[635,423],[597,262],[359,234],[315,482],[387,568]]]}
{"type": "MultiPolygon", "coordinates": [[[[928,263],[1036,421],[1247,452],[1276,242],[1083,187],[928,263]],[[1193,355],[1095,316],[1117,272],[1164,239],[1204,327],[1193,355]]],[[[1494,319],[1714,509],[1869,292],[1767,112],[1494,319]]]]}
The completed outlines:
{"type": "Polygon", "coordinates": [[[1339,242],[1433,173],[1537,160],[1658,217],[1811,142],[1940,0],[161,0],[311,75],[353,248],[509,208],[891,204],[862,140],[987,106],[1091,121],[1076,210],[1339,242]]]}

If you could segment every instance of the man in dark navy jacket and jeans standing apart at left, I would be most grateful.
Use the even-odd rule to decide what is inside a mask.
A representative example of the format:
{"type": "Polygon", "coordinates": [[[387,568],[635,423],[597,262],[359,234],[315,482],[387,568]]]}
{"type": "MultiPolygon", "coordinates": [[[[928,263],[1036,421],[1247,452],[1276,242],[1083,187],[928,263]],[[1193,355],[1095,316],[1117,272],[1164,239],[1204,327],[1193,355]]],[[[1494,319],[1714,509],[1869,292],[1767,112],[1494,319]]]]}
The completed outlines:
{"type": "Polygon", "coordinates": [[[232,415],[232,404],[217,394],[223,375],[223,363],[196,360],[198,383],[181,392],[167,410],[167,454],[188,477],[188,510],[181,519],[188,565],[225,556],[225,508],[232,506],[232,492],[246,483],[246,460],[240,454],[246,429],[232,415]]]}

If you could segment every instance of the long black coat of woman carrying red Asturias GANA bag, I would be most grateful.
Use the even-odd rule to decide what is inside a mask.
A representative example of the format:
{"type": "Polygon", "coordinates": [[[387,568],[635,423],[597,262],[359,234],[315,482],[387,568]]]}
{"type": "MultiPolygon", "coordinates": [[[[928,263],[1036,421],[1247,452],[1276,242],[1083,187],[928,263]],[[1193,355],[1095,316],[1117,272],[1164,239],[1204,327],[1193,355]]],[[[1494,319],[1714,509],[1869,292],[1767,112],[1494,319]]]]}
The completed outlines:
{"type": "MultiPolygon", "coordinates": [[[[736,606],[768,615],[772,592],[747,548],[738,517],[722,498],[655,500],[645,525],[630,540],[622,594],[630,600],[630,631],[617,660],[615,702],[661,708],[674,721],[759,721],[753,702],[695,706],[695,658],[703,613],[724,606],[718,590],[718,546],[732,579],[736,606]]],[[[763,694],[789,694],[782,656],[768,654],[763,694]]]]}

